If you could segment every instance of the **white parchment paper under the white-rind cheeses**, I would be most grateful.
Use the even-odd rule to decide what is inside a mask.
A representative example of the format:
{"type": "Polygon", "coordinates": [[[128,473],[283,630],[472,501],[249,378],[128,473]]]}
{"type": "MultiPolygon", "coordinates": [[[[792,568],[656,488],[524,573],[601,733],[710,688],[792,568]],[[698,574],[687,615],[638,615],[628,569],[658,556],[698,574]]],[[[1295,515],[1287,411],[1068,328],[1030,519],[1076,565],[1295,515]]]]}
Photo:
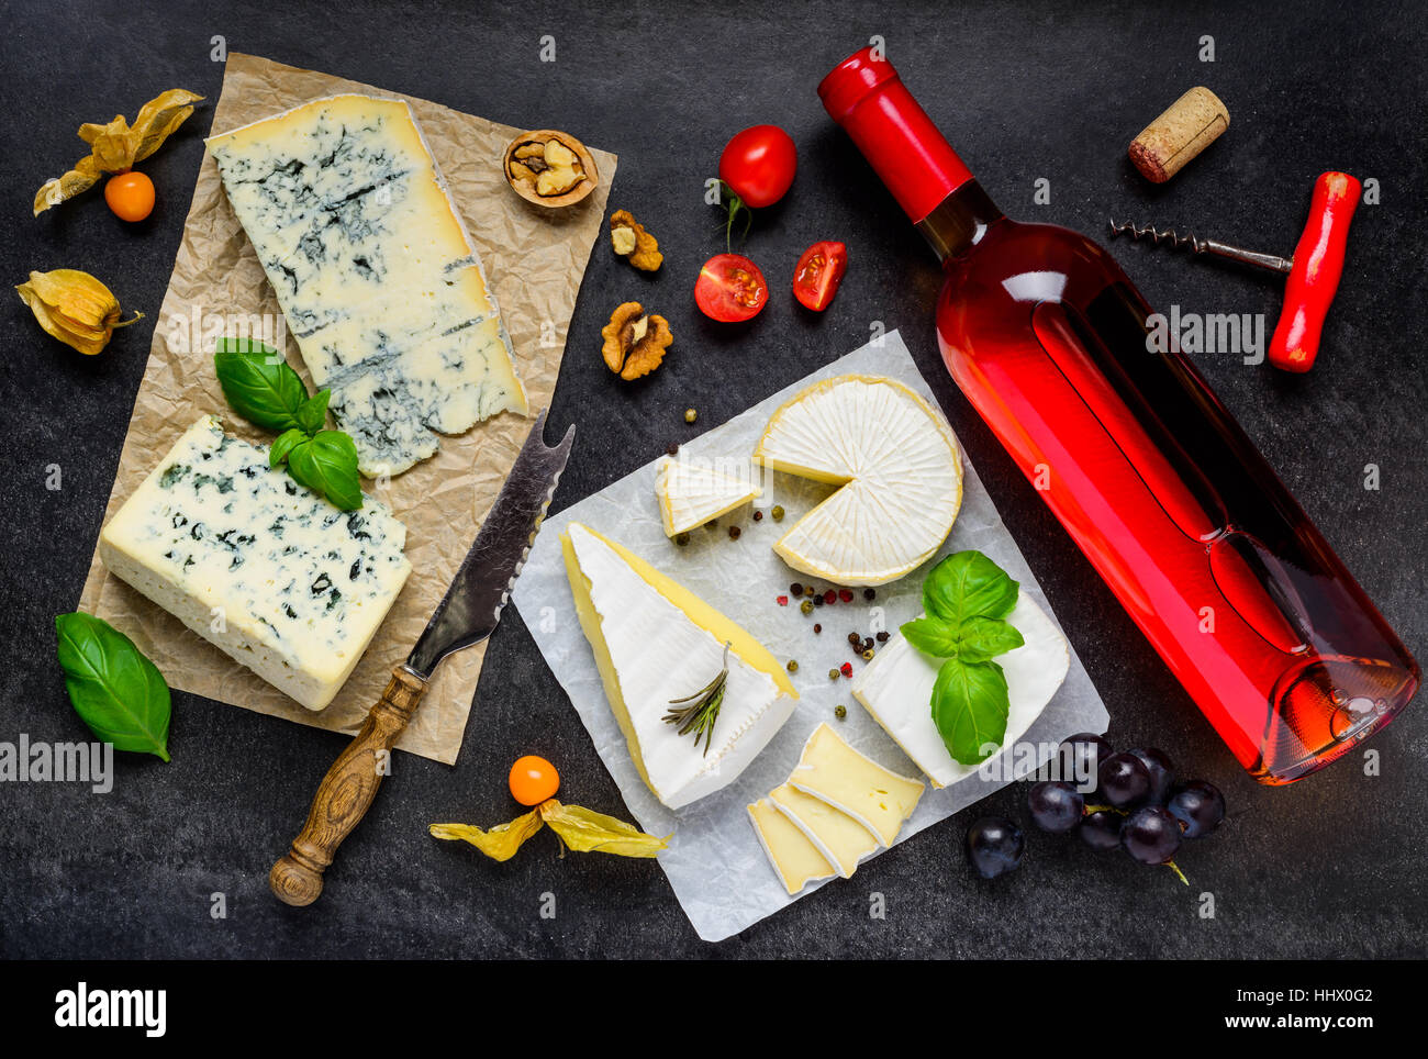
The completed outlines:
{"type": "MultiPolygon", "coordinates": [[[[681,454],[705,460],[747,457],[763,434],[768,417],[780,404],[810,382],[848,373],[895,378],[937,407],[932,391],[912,363],[907,345],[897,331],[892,331],[883,337],[881,344],[868,344],[850,353],[787,390],[773,394],[724,425],[685,442],[681,454]]],[[[1051,607],[1022,559],[1021,549],[1007,532],[977,472],[965,464],[965,460],[964,471],[962,508],[937,558],[977,548],[1015,578],[1021,584],[1021,591],[1028,592],[1047,614],[1051,614],[1051,607]]],[[[755,501],[755,505],[764,510],[761,521],[755,522],[751,510],[745,507],[718,520],[720,525],[714,530],[695,530],[690,544],[680,548],[664,535],[660,525],[654,475],[655,462],[651,461],[593,497],[550,517],[516,582],[514,599],[541,654],[575,705],[601,761],[614,776],[635,821],[651,835],[674,832],[670,848],[660,855],[660,865],[694,929],[705,941],[723,941],[820,886],[838,882],[834,878],[825,883],[813,883],[797,896],[790,896],[764,856],[745,808],[788,778],[804,741],[820,722],[833,724],[853,746],[887,768],[927,779],[853,698],[851,681],[843,678],[831,681],[828,669],[847,661],[853,661],[855,667],[863,665],[848,648],[847,637],[854,629],[868,635],[877,628],[877,619],[881,619],[883,627],[897,629],[921,612],[922,575],[931,568],[931,562],[901,581],[880,587],[873,602],[863,599],[863,589],[854,589],[854,602],[821,607],[811,617],[805,617],[798,609],[797,599],[790,599],[787,607],[778,607],[775,602],[775,597],[787,595],[791,582],[807,584],[808,578],[785,567],[774,554],[773,544],[797,518],[827,497],[831,487],[770,472],[763,480],[764,494],[755,501]],[[768,508],[774,504],[783,505],[787,511],[783,522],[774,522],[768,517],[768,508]],[[607,534],[683,582],[753,632],[777,658],[798,661],[798,672],[793,679],[801,698],[788,724],[738,779],[677,812],[661,805],[640,779],[620,725],[605,702],[595,658],[575,618],[561,559],[560,534],[571,521],[584,522],[607,534]],[[728,525],[741,528],[740,539],[728,538],[728,525]],[[814,635],[814,621],[823,625],[821,635],[814,635]],[[848,711],[847,719],[841,722],[833,712],[840,704],[848,711]]],[[[830,587],[820,582],[820,588],[830,587]]],[[[1054,614],[1052,621],[1055,621],[1054,614]]],[[[1104,732],[1108,719],[1101,696],[1072,649],[1065,684],[1027,732],[1022,745],[1054,745],[1081,731],[1104,732]]],[[[1012,768],[1008,762],[1001,779],[974,775],[941,791],[932,789],[928,784],[917,812],[904,825],[897,841],[902,842],[1005,786],[1012,775],[1024,775],[1035,766],[1032,761],[1040,764],[1048,754],[1050,751],[1032,756],[1025,752],[1004,751],[1002,759],[1010,758],[1020,768],[1012,768]]]]}

